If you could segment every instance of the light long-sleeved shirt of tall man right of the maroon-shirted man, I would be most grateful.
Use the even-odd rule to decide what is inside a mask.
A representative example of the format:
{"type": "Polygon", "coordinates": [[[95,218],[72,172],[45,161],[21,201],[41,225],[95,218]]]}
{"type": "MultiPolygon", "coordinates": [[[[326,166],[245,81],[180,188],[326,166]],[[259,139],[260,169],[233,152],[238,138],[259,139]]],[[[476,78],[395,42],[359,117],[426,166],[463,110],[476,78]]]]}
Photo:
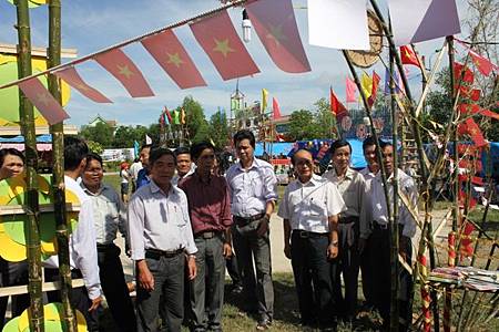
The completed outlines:
{"type": "Polygon", "coordinates": [[[234,164],[225,178],[231,190],[233,216],[247,218],[263,214],[267,201],[277,200],[277,178],[267,162],[254,158],[248,169],[241,163],[234,164]]]}

